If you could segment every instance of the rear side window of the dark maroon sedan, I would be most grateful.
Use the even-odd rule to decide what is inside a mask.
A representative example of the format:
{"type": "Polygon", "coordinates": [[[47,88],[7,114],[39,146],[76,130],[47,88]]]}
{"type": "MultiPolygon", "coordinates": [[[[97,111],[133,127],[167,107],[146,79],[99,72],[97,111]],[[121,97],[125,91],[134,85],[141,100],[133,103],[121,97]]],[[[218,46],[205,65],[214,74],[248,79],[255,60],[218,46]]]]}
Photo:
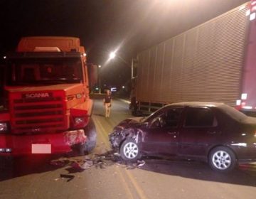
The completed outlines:
{"type": "Polygon", "coordinates": [[[184,127],[213,127],[216,120],[208,107],[189,107],[186,112],[184,127]]]}

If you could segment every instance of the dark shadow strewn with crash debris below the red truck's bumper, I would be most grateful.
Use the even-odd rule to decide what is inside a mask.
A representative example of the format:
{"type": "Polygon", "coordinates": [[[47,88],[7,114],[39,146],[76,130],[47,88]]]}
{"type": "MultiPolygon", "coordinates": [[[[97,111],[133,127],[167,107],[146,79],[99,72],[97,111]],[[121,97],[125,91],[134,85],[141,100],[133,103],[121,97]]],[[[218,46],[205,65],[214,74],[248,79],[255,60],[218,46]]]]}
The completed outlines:
{"type": "Polygon", "coordinates": [[[78,154],[51,154],[20,156],[16,158],[0,159],[0,181],[6,181],[11,178],[26,176],[32,173],[45,173],[54,171],[58,168],[65,168],[68,174],[60,174],[60,178],[73,180],[74,173],[80,173],[91,166],[105,169],[119,161],[119,156],[115,156],[113,151],[107,151],[105,154],[89,154],[87,156],[78,156],[78,154]]]}

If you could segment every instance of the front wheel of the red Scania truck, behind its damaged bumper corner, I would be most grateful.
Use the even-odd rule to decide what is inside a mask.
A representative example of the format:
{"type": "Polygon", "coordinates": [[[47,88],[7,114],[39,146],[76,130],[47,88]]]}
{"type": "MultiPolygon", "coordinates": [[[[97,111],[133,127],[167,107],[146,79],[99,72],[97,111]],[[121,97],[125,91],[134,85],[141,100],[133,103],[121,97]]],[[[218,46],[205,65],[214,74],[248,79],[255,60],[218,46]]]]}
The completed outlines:
{"type": "Polygon", "coordinates": [[[83,150],[85,152],[90,152],[95,148],[97,140],[95,123],[92,119],[90,119],[89,124],[87,125],[87,127],[85,127],[85,135],[87,136],[87,141],[84,144],[83,150]]]}

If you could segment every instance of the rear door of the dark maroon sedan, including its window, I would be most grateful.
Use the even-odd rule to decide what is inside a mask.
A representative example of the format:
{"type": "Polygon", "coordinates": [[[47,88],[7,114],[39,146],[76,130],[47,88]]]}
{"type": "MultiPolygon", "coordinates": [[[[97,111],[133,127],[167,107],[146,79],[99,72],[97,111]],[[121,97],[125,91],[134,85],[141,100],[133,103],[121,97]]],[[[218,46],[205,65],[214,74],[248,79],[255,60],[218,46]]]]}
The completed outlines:
{"type": "Polygon", "coordinates": [[[206,156],[208,147],[215,143],[218,122],[209,107],[187,107],[180,130],[178,153],[183,156],[206,156]]]}

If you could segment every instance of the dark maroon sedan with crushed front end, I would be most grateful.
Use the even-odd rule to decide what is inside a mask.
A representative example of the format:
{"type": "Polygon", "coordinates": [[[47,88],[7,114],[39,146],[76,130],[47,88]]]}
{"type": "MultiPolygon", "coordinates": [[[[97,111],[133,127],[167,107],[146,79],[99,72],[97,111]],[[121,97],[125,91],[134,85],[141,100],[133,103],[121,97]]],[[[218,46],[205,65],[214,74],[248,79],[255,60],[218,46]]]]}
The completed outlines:
{"type": "Polygon", "coordinates": [[[256,118],[222,103],[181,102],[126,119],[110,134],[124,161],[144,154],[207,161],[215,171],[256,161],[256,118]]]}

